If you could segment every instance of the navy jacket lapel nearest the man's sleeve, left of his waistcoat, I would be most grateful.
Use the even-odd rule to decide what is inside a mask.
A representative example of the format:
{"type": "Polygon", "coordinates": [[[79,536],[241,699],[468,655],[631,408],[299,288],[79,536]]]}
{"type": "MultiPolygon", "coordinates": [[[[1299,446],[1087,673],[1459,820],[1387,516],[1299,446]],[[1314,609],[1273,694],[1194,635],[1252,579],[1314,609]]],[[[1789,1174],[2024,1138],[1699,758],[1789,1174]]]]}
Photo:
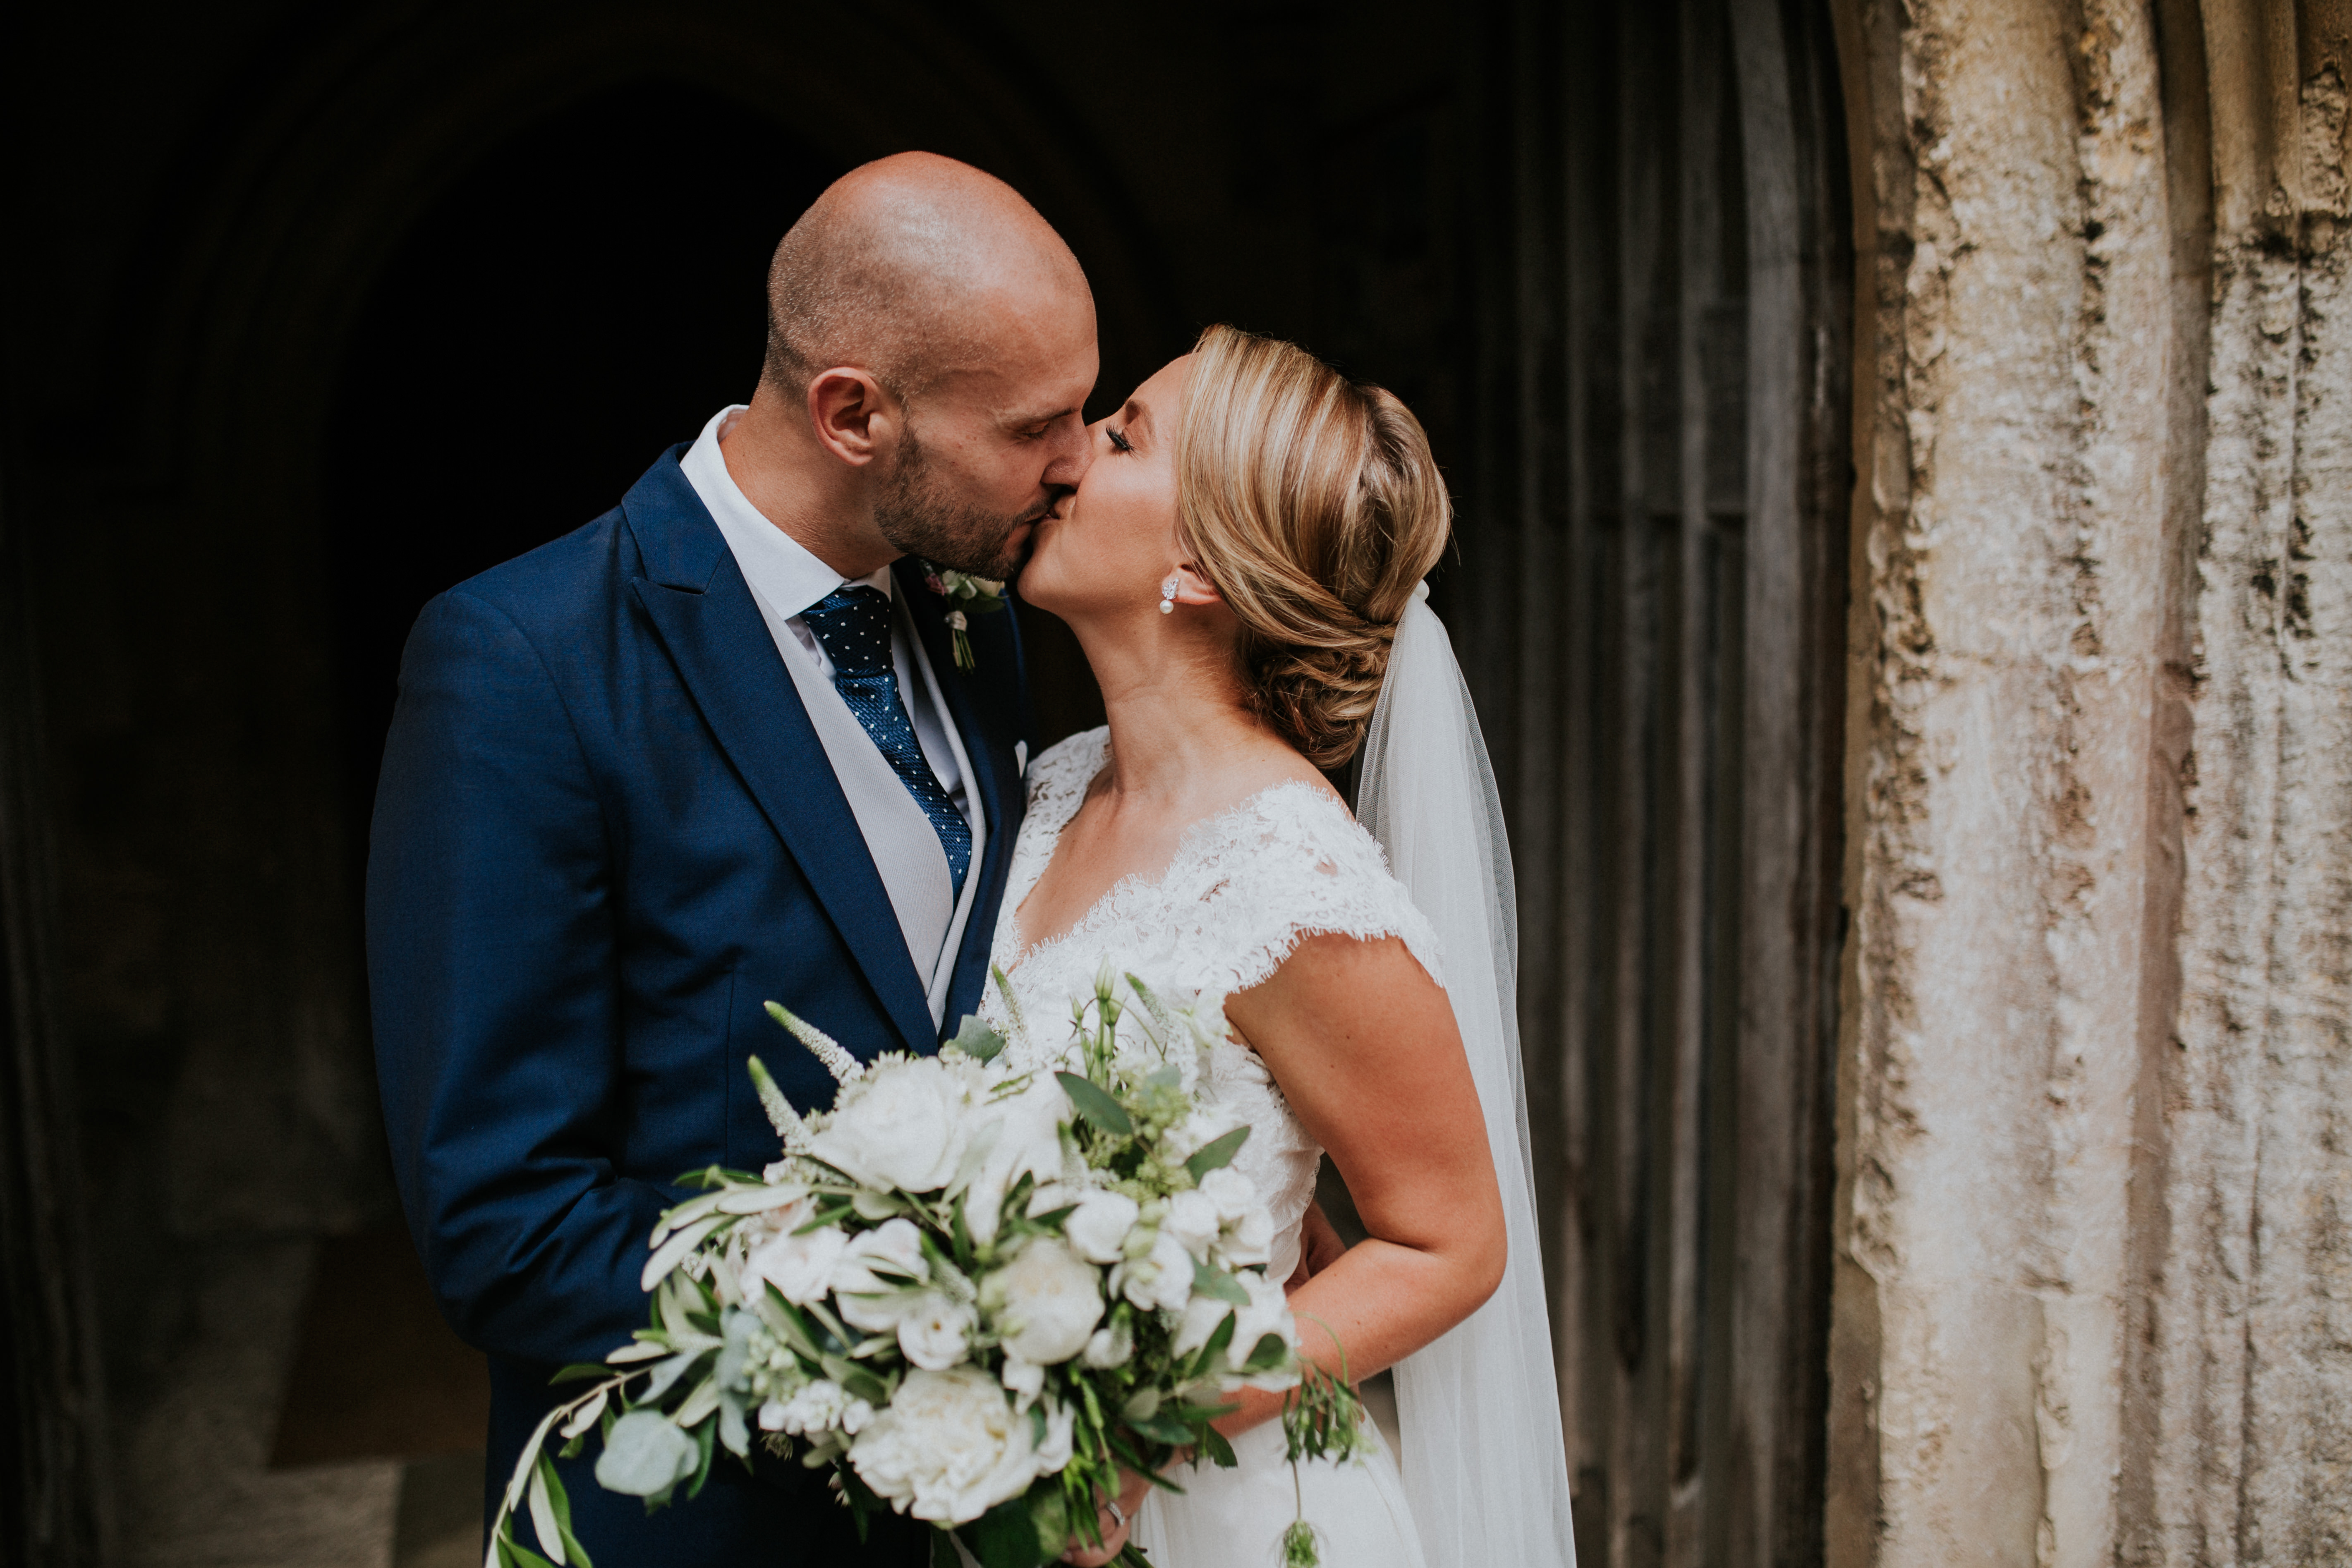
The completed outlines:
{"type": "Polygon", "coordinates": [[[906,1046],[936,1051],[931,1009],[882,875],[734,552],[677,468],[680,451],[663,456],[621,503],[644,559],[644,576],[633,583],[637,602],[906,1046]]]}

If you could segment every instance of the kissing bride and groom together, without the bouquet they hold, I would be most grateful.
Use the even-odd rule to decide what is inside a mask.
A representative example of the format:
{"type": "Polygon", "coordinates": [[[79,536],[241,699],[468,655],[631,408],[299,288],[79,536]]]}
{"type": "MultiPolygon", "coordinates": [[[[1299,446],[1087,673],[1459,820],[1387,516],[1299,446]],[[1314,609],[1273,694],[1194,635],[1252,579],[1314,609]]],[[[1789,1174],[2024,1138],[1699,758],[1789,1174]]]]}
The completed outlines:
{"type": "MultiPolygon", "coordinates": [[[[1399,1453],[1296,1481],[1322,1561],[1571,1563],[1510,851],[1425,602],[1451,503],[1421,423],[1230,327],[1084,423],[1077,259],[924,153],[809,207],[767,320],[748,407],[433,599],[400,668],[369,987],[407,1220],[489,1354],[485,1512],[550,1373],[644,1324],[677,1175],[774,1159],[746,1058],[830,1103],[767,999],[861,1060],[978,1013],[1044,1067],[1110,959],[1223,999],[1202,1095],[1251,1128],[1232,1168],[1301,1356],[1397,1368],[1399,1453]],[[1025,607],[1077,632],[1110,717],[1037,755],[1025,607]],[[1355,811],[1324,778],[1350,759],[1355,811]],[[1367,1229],[1345,1251],[1312,1206],[1327,1152],[1367,1229]]],[[[1282,1399],[1216,1422],[1237,1467],[1127,1476],[1063,1561],[1275,1561],[1282,1399]]],[[[858,1540],[767,1455],[654,1519],[586,1460],[567,1481],[607,1566],[929,1561],[917,1521],[858,1540]]]]}

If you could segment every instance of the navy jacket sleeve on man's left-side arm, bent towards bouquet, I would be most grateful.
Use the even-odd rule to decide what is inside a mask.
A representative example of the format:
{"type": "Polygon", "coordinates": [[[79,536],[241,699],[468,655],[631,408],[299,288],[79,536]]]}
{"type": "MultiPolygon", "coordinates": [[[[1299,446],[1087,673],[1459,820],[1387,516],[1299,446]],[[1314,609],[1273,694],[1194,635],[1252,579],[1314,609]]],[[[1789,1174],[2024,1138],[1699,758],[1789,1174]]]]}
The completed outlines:
{"type": "Polygon", "coordinates": [[[393,1168],[470,1345],[597,1361],[647,1321],[677,1190],[623,1135],[614,856],[572,715],[496,607],[409,632],[367,863],[367,976],[393,1168]]]}

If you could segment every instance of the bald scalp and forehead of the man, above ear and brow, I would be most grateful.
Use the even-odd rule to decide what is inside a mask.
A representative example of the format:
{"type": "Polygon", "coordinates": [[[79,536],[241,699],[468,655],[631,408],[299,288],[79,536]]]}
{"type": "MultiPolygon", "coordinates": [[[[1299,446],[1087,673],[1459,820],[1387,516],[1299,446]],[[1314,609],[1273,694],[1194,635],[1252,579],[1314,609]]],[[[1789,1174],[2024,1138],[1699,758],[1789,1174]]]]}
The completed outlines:
{"type": "Polygon", "coordinates": [[[797,397],[818,371],[856,367],[908,397],[985,364],[1004,334],[1080,315],[1091,339],[1087,275],[1018,190],[896,153],[833,181],[776,247],[760,376],[797,397]]]}

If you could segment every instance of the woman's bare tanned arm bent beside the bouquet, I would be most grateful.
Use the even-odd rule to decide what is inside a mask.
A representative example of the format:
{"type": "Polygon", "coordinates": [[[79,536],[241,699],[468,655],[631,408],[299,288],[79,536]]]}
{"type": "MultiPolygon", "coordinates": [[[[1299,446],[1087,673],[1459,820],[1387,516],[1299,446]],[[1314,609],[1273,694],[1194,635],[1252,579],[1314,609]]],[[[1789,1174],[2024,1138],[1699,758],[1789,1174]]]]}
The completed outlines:
{"type": "MultiPolygon", "coordinates": [[[[1291,1295],[1301,1354],[1362,1380],[1414,1354],[1503,1281],[1503,1197],[1454,1006],[1395,938],[1315,936],[1225,1016],[1348,1180],[1369,1239],[1291,1295]],[[1324,1333],[1329,1328],[1331,1333],[1324,1333]]],[[[1279,1415],[1244,1389],[1216,1422],[1279,1415]]]]}

